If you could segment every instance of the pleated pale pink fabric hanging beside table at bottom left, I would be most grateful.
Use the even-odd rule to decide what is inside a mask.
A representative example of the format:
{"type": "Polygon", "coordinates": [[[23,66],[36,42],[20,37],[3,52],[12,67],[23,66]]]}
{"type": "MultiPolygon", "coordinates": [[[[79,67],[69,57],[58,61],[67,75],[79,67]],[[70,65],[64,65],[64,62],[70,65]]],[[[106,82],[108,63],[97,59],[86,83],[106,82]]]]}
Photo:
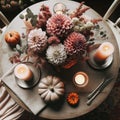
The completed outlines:
{"type": "Polygon", "coordinates": [[[0,80],[0,120],[17,120],[24,112],[8,94],[0,80]]]}

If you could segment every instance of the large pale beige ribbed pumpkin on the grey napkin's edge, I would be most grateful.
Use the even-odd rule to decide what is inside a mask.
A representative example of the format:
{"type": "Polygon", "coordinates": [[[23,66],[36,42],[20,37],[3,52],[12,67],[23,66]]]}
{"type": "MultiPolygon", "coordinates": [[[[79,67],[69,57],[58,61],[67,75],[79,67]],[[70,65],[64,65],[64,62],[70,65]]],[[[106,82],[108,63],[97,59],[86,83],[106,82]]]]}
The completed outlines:
{"type": "Polygon", "coordinates": [[[54,102],[64,94],[64,83],[56,76],[42,78],[38,87],[38,93],[45,102],[54,102]]]}

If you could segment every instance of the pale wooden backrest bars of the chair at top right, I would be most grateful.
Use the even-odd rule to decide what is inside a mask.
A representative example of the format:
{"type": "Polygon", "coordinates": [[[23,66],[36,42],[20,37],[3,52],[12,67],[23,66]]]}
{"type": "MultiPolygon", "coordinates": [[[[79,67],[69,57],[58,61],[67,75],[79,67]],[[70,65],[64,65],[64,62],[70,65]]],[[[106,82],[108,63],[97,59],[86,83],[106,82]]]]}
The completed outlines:
{"type": "MultiPolygon", "coordinates": [[[[114,0],[112,5],[109,7],[107,12],[103,16],[103,19],[107,20],[111,16],[111,14],[113,14],[113,12],[115,11],[115,9],[118,7],[119,4],[120,4],[120,0],[114,0]]],[[[119,23],[120,23],[120,17],[116,20],[114,26],[117,26],[119,23]]]]}

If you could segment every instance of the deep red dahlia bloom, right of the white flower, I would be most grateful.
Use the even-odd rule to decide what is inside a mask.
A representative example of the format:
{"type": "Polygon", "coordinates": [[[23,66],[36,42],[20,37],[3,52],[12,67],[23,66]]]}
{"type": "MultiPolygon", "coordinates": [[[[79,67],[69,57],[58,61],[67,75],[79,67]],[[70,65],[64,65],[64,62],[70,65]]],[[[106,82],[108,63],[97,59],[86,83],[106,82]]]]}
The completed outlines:
{"type": "Polygon", "coordinates": [[[82,56],[86,51],[86,38],[81,33],[72,32],[64,41],[66,52],[70,56],[82,56]]]}

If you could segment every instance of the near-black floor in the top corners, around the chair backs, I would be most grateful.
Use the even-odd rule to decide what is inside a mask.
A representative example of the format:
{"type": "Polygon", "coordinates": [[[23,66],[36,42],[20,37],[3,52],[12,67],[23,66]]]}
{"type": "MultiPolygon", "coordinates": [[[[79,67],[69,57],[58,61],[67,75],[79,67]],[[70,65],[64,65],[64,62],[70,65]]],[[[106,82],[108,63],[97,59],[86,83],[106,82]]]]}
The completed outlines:
{"type": "MultiPolygon", "coordinates": [[[[41,1],[41,0],[37,0],[41,1]]],[[[77,2],[81,2],[83,0],[74,0],[77,2]]],[[[85,4],[96,10],[101,16],[105,14],[113,0],[84,0],[85,4]]],[[[32,3],[25,1],[26,5],[24,8],[28,7],[32,3]]],[[[22,11],[23,8],[17,8],[16,10],[3,10],[0,5],[0,10],[4,13],[4,15],[8,18],[9,21],[11,21],[18,13],[22,11]]],[[[116,9],[115,13],[110,17],[113,21],[117,19],[117,17],[120,15],[120,5],[116,9]]],[[[3,27],[4,24],[0,21],[0,28],[3,27]]]]}

